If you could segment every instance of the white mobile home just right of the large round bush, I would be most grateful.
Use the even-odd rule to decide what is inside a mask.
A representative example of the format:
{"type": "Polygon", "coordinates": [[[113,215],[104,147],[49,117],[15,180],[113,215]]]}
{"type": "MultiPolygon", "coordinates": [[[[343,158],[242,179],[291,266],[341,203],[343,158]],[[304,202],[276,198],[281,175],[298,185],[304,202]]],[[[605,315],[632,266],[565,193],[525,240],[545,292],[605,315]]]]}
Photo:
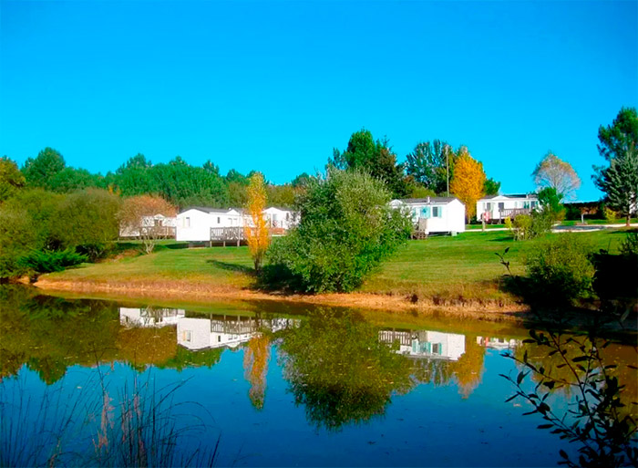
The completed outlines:
{"type": "Polygon", "coordinates": [[[415,227],[425,234],[465,231],[465,204],[456,197],[406,198],[393,200],[390,206],[408,210],[415,227]]]}

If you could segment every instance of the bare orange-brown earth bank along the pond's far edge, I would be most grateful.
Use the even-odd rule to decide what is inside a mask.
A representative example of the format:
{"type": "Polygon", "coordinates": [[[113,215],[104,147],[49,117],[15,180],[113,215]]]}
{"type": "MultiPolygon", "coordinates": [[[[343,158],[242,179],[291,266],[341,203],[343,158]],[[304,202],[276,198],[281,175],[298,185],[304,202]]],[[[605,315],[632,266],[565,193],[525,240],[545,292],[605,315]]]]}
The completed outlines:
{"type": "Polygon", "coordinates": [[[516,303],[463,300],[456,303],[435,304],[431,299],[416,301],[411,296],[391,296],[374,293],[325,293],[316,295],[268,293],[237,286],[198,285],[180,281],[149,281],[144,283],[104,283],[92,281],[52,280],[42,277],[35,284],[37,289],[52,292],[104,293],[118,298],[181,299],[190,302],[206,301],[269,301],[273,303],[365,308],[391,311],[422,317],[445,315],[458,318],[474,318],[489,321],[522,323],[530,307],[516,303]]]}

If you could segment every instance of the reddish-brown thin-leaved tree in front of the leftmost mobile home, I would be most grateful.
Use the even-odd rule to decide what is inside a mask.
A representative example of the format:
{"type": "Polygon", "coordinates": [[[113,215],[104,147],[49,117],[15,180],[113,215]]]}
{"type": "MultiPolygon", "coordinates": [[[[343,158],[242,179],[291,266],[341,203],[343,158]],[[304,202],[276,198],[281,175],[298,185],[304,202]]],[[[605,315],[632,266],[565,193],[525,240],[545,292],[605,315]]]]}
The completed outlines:
{"type": "Polygon", "coordinates": [[[138,195],[124,200],[119,213],[120,227],[130,233],[139,234],[144,250],[150,254],[162,236],[166,236],[166,227],[158,223],[155,216],[175,216],[175,206],[157,195],[138,195]]]}

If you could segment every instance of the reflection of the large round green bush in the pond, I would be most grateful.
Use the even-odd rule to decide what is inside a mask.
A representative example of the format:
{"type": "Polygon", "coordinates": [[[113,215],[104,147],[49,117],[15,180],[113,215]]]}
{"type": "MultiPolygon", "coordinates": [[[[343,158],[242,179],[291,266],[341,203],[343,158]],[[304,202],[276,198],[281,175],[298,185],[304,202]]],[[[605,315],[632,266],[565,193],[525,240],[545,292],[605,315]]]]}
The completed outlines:
{"type": "Polygon", "coordinates": [[[339,429],[381,415],[393,391],[411,386],[409,359],[370,324],[317,311],[283,338],[284,377],[317,426],[339,429]]]}

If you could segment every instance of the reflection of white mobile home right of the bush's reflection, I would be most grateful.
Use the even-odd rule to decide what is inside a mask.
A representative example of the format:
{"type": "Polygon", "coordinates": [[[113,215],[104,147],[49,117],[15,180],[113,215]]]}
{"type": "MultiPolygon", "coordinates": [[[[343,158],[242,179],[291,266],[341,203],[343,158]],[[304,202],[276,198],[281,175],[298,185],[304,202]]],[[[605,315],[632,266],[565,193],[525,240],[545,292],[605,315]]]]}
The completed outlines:
{"type": "Polygon", "coordinates": [[[411,358],[458,360],[465,353],[465,335],[429,330],[381,330],[383,343],[398,341],[401,354],[411,358]]]}

